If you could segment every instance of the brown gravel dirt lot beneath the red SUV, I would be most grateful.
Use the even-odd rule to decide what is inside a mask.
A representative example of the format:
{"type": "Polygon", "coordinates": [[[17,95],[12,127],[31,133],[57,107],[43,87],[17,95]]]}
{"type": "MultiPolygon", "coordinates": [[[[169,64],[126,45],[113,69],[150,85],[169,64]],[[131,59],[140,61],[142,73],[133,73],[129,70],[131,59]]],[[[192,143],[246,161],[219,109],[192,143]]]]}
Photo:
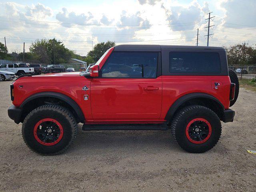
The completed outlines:
{"type": "Polygon", "coordinates": [[[90,131],[59,156],[31,152],[8,118],[0,82],[0,191],[255,191],[256,92],[241,89],[233,123],[204,154],[183,151],[170,131],[90,131]]]}

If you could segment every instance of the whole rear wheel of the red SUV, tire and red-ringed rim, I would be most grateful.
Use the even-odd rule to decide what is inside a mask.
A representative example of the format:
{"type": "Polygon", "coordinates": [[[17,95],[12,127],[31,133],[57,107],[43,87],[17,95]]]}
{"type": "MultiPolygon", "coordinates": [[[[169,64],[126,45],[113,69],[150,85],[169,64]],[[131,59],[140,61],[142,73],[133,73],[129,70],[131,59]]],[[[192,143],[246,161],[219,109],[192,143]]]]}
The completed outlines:
{"type": "Polygon", "coordinates": [[[212,149],[220,139],[220,119],[209,108],[200,105],[182,108],[171,124],[174,140],[191,153],[203,153],[212,149]]]}

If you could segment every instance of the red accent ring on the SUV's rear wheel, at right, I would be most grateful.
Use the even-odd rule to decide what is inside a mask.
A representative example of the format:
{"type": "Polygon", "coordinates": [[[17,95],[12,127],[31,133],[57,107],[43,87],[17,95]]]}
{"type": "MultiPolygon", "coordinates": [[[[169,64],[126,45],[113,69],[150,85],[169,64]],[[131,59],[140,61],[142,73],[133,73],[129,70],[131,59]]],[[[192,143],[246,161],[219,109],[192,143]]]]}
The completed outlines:
{"type": "MultiPolygon", "coordinates": [[[[199,133],[200,133],[200,128],[199,128],[199,130],[198,130],[198,135],[199,135],[199,133]]],[[[195,133],[195,132],[193,132],[193,133],[195,133]]],[[[203,134],[205,134],[206,135],[206,133],[205,132],[203,132],[203,134]]],[[[212,134],[212,126],[211,126],[211,124],[206,120],[206,119],[204,119],[204,118],[195,118],[195,119],[192,119],[189,123],[188,123],[188,125],[186,126],[186,137],[187,137],[187,139],[190,141],[190,142],[192,142],[192,143],[194,143],[194,144],[202,144],[202,143],[204,143],[204,142],[206,142],[209,138],[210,138],[210,136],[211,136],[211,134],[212,134]],[[206,127],[206,129],[208,129],[207,130],[207,132],[208,132],[208,135],[204,138],[204,139],[200,139],[199,141],[198,140],[194,140],[193,139],[193,137],[189,134],[189,131],[191,132],[191,125],[193,124],[193,123],[195,123],[195,122],[204,122],[207,126],[208,126],[208,128],[206,127]]]]}

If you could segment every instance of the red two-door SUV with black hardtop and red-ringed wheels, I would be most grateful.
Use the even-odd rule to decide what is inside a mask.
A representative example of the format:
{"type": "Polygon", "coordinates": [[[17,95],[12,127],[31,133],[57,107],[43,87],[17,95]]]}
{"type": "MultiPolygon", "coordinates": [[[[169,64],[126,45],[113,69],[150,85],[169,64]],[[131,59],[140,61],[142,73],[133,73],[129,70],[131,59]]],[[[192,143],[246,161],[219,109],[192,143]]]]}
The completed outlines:
{"type": "MultiPolygon", "coordinates": [[[[118,45],[87,72],[22,76],[9,117],[26,144],[60,154],[83,130],[171,130],[186,151],[206,152],[232,122],[236,74],[220,47],[118,45]]],[[[236,91],[235,91],[236,90],[236,91]]]]}

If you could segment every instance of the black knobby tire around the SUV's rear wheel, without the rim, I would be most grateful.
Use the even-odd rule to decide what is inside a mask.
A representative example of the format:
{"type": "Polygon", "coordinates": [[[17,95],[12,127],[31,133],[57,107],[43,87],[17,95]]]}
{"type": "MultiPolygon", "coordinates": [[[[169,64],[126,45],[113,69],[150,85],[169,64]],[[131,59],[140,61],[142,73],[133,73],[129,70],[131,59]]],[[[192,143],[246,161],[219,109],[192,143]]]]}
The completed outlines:
{"type": "Polygon", "coordinates": [[[209,108],[200,105],[187,106],[179,110],[171,123],[171,132],[178,145],[191,153],[203,153],[212,149],[220,139],[220,119],[209,108]],[[186,136],[186,126],[195,118],[206,119],[212,128],[212,133],[206,142],[201,144],[192,143],[186,136]]]}

